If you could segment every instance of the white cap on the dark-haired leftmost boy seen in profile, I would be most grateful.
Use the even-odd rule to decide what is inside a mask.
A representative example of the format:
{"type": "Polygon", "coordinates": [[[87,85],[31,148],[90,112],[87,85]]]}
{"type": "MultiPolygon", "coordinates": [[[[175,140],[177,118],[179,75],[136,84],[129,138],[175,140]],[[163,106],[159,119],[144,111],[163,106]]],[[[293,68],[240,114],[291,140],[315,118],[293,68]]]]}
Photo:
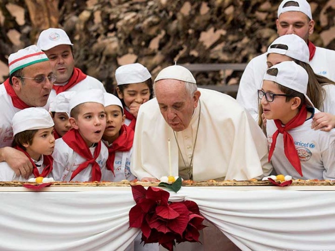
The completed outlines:
{"type": "Polygon", "coordinates": [[[47,110],[38,107],[20,110],[12,118],[13,136],[27,130],[45,129],[53,126],[53,120],[47,110]]]}

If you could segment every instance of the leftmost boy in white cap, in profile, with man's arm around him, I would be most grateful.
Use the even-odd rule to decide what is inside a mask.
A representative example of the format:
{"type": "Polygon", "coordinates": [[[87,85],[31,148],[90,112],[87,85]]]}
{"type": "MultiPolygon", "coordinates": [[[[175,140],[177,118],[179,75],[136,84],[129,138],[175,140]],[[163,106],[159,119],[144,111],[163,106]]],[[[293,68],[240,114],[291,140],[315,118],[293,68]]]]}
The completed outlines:
{"type": "MultiPolygon", "coordinates": [[[[52,177],[54,149],[53,121],[43,108],[26,108],[17,112],[12,119],[13,147],[23,152],[33,165],[33,177],[52,177]]],[[[29,179],[28,178],[28,179],[29,179]]],[[[0,163],[0,181],[27,181],[15,174],[7,162],[0,163]]]]}

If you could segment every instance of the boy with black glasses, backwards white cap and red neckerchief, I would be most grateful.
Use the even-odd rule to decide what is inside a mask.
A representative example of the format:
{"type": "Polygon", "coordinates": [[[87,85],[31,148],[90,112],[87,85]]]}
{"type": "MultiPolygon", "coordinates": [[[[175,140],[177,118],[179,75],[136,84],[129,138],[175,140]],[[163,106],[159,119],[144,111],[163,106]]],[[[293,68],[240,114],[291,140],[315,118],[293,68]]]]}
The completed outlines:
{"type": "Polygon", "coordinates": [[[267,119],[269,161],[277,174],[295,179],[334,179],[335,131],[311,129],[319,110],[306,95],[307,85],[307,72],[293,61],[281,62],[264,75],[258,98],[267,119]]]}

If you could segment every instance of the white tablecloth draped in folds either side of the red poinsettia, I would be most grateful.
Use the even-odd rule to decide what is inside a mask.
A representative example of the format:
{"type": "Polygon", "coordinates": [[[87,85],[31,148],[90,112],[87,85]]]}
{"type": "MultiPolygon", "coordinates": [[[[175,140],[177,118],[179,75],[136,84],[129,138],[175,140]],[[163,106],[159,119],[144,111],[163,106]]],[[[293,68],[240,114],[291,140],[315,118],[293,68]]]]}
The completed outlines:
{"type": "MultiPolygon", "coordinates": [[[[135,202],[123,190],[0,192],[0,250],[124,250],[139,230],[129,228],[135,202]]],[[[244,251],[335,251],[334,191],[171,192],[184,199],[244,251]]]]}

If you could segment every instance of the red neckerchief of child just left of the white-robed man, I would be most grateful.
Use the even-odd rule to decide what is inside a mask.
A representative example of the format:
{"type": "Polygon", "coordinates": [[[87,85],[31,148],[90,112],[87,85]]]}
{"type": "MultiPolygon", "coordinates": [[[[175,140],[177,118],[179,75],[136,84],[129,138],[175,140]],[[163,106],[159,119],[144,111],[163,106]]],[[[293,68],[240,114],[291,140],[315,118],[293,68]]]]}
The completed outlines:
{"type": "Polygon", "coordinates": [[[111,144],[111,146],[107,146],[108,159],[106,167],[108,170],[113,172],[113,174],[114,174],[115,152],[129,151],[133,146],[133,141],[134,141],[134,130],[123,124],[120,129],[119,137],[113,142],[113,144],[111,144]]]}

